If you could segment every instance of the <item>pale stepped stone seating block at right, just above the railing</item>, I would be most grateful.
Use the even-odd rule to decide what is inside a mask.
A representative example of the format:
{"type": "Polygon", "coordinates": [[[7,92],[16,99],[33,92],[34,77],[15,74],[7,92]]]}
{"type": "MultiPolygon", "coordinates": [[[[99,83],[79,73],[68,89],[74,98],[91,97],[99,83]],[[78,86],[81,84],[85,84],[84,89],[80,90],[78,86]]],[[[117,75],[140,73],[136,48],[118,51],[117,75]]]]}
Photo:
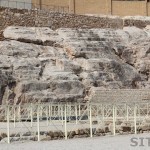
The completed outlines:
{"type": "Polygon", "coordinates": [[[147,102],[150,100],[150,89],[111,89],[102,90],[93,87],[90,90],[91,102],[147,102]]]}

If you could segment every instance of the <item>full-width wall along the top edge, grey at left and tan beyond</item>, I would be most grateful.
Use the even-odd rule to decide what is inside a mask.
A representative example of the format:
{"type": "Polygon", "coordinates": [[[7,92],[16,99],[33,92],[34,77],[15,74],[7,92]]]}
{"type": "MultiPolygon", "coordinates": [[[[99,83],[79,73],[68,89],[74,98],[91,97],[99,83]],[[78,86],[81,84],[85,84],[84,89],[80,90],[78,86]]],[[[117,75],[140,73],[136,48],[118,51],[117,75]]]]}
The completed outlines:
{"type": "Polygon", "coordinates": [[[0,0],[0,6],[13,8],[40,8],[63,10],[73,14],[103,14],[119,16],[149,16],[147,1],[118,0],[0,0]],[[25,2],[25,3],[24,3],[25,2]]]}

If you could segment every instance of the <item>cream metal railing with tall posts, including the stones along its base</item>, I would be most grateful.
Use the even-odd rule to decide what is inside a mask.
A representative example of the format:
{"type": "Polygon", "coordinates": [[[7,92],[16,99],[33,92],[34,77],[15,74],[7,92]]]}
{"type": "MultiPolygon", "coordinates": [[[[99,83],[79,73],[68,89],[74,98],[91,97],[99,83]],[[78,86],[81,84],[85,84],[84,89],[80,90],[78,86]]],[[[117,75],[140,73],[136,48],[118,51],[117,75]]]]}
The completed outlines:
{"type": "Polygon", "coordinates": [[[150,103],[1,105],[0,142],[136,134],[150,130],[149,120],[150,103]]]}

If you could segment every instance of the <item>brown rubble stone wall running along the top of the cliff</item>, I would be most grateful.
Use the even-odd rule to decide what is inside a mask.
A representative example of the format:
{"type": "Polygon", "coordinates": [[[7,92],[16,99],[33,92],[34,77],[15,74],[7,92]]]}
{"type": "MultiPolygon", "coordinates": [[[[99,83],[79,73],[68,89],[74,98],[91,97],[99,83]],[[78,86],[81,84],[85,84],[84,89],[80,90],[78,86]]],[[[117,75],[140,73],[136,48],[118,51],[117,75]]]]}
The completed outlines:
{"type": "Polygon", "coordinates": [[[44,10],[0,8],[0,39],[3,30],[10,25],[58,28],[123,28],[124,26],[146,27],[150,17],[88,16],[44,10]]]}

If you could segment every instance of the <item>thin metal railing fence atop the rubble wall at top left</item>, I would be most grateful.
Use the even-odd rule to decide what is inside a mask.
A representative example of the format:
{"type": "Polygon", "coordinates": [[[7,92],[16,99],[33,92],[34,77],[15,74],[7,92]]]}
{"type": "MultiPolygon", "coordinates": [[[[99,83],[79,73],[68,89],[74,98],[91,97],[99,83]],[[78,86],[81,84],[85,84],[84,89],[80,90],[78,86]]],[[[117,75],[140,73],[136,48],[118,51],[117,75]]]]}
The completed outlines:
{"type": "Polygon", "coordinates": [[[69,12],[69,6],[55,6],[46,4],[36,4],[30,2],[21,1],[10,1],[10,0],[0,0],[0,6],[5,8],[17,8],[17,9],[41,9],[54,12],[69,12]]]}

